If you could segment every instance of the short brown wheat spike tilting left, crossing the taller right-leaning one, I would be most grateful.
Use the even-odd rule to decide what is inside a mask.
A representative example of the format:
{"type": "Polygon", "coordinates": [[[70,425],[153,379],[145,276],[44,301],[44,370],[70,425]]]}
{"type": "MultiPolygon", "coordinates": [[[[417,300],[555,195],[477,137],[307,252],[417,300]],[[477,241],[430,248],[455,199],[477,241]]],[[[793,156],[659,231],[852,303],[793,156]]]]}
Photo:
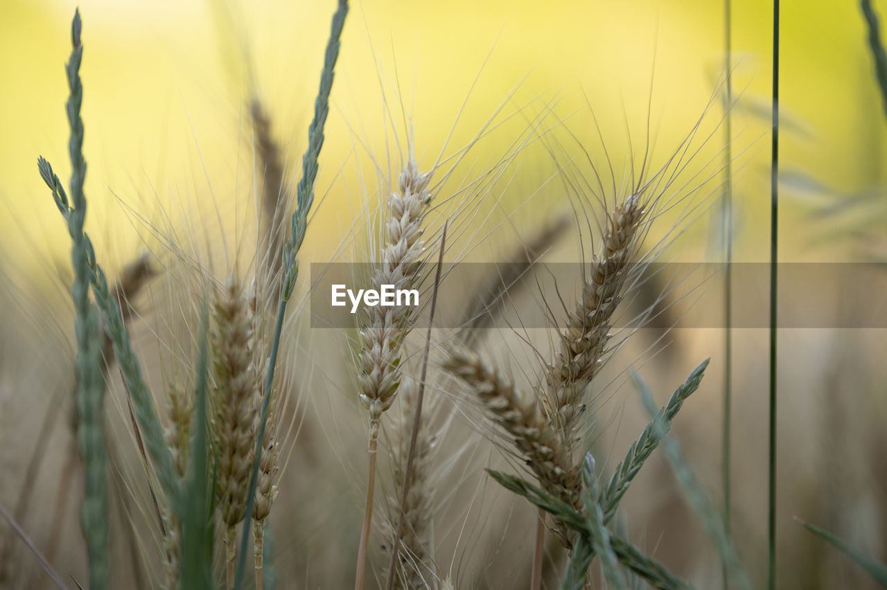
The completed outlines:
{"type": "Polygon", "coordinates": [[[498,369],[467,350],[451,353],[443,367],[468,384],[493,422],[514,437],[539,484],[571,506],[579,506],[578,470],[561,433],[548,422],[537,398],[520,392],[498,369]]]}

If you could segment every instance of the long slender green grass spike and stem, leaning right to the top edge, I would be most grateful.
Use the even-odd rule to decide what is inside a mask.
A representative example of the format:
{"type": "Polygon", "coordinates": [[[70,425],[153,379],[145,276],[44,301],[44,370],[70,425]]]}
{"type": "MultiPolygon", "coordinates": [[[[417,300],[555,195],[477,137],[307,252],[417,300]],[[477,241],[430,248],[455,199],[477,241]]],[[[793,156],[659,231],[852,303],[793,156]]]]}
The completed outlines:
{"type": "Polygon", "coordinates": [[[302,178],[296,187],[296,210],[290,223],[290,237],[284,245],[284,268],[286,269],[286,274],[284,275],[284,286],[278,307],[277,322],[275,322],[274,327],[274,338],[271,341],[271,358],[268,365],[268,376],[265,379],[262,411],[259,416],[259,428],[255,439],[255,460],[249,477],[246,516],[243,521],[243,534],[240,538],[237,571],[234,576],[234,588],[236,590],[242,587],[244,572],[247,569],[250,521],[252,520],[253,504],[255,502],[255,486],[259,477],[259,464],[262,460],[262,441],[265,437],[268,409],[271,405],[271,387],[274,384],[274,370],[277,367],[280,332],[283,328],[284,316],[287,313],[287,302],[293,293],[295,280],[299,275],[299,264],[295,260],[295,255],[299,252],[299,248],[302,246],[302,241],[305,238],[305,230],[308,227],[308,213],[314,202],[314,181],[318,175],[318,157],[324,144],[324,126],[326,125],[326,116],[329,113],[330,91],[333,89],[335,64],[339,58],[341,30],[345,26],[347,14],[348,1],[339,0],[339,7],[333,15],[333,25],[330,29],[329,40],[326,43],[324,68],[320,74],[320,88],[318,89],[318,97],[314,104],[314,119],[311,120],[308,128],[308,147],[302,157],[302,178]]]}

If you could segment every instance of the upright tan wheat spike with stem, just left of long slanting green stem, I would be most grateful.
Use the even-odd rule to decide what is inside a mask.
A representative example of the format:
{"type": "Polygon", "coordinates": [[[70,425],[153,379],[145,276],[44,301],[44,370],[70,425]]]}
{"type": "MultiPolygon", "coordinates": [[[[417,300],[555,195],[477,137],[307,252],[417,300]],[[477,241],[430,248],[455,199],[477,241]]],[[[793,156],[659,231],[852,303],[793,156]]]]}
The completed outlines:
{"type": "Polygon", "coordinates": [[[213,306],[213,435],[218,453],[217,505],[226,526],[229,587],[234,535],[246,516],[249,474],[255,456],[259,377],[255,365],[255,316],[239,284],[230,279],[213,306]]]}

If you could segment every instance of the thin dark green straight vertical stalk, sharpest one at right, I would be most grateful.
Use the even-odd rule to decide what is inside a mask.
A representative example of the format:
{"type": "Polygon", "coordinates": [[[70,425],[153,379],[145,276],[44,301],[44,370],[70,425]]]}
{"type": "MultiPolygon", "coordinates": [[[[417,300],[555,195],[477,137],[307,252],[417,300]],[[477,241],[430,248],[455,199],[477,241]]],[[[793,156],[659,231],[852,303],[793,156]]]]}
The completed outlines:
{"type": "Polygon", "coordinates": [[[770,453],[767,485],[767,588],[776,588],[776,260],[779,229],[779,0],[773,0],[773,151],[770,176],[770,453]]]}

